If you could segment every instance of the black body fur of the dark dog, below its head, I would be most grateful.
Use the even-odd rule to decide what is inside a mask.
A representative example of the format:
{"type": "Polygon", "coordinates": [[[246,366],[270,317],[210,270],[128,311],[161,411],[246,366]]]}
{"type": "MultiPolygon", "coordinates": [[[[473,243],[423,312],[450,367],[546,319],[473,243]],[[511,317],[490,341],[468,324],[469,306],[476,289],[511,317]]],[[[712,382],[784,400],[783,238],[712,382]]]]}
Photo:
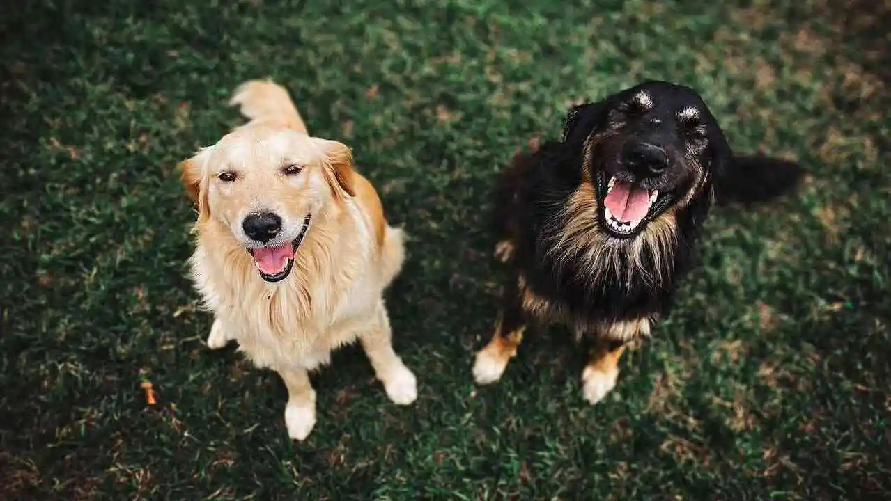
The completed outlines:
{"type": "MultiPolygon", "coordinates": [[[[580,188],[593,190],[590,183],[583,184],[582,162],[580,155],[567,153],[559,144],[545,144],[539,151],[514,158],[497,183],[495,231],[513,245],[508,265],[515,279],[538,303],[549,304],[550,317],[560,317],[573,327],[590,330],[611,322],[665,316],[707,213],[707,194],[698,194],[687,210],[674,214],[674,248],[660,276],[652,272],[655,260],[666,256],[657,255],[664,251],[651,246],[641,247],[636,264],[630,255],[623,255],[620,246],[612,253],[615,259],[584,259],[590,251],[586,242],[576,242],[573,252],[561,255],[553,252],[553,241],[572,217],[567,214],[570,198],[580,188]]],[[[596,204],[585,217],[595,217],[595,210],[596,204]]],[[[575,235],[589,238],[592,246],[607,245],[599,225],[575,235]]]]}

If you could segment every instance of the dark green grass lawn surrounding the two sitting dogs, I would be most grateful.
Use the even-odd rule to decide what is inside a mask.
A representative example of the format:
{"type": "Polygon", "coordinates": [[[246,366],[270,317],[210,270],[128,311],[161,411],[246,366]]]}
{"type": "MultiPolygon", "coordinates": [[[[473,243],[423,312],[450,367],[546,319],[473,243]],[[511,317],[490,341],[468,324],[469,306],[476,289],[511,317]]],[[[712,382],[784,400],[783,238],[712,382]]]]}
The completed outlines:
{"type": "Polygon", "coordinates": [[[23,4],[0,31],[0,498],[891,492],[881,6],[23,4]],[[226,98],[266,76],[313,133],[354,148],[412,235],[388,304],[419,400],[390,404],[345,349],[315,376],[304,443],[287,439],[277,376],[205,348],[185,279],[194,214],[176,164],[239,123],[226,98]],[[569,103],[643,77],[697,88],[735,149],[797,158],[808,178],[772,206],[715,212],[673,316],[597,407],[544,339],[476,388],[495,173],[555,137],[569,103]]]}

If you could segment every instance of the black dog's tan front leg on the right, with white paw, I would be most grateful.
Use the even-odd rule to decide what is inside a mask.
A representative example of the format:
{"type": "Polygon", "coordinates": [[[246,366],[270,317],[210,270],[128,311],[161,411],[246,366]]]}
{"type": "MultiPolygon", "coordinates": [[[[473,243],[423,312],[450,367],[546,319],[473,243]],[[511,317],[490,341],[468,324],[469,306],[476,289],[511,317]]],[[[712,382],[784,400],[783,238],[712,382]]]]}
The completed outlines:
{"type": "Polygon", "coordinates": [[[598,333],[588,365],[582,372],[584,400],[596,404],[616,387],[618,361],[627,343],[650,335],[650,320],[637,319],[615,322],[598,333]]]}

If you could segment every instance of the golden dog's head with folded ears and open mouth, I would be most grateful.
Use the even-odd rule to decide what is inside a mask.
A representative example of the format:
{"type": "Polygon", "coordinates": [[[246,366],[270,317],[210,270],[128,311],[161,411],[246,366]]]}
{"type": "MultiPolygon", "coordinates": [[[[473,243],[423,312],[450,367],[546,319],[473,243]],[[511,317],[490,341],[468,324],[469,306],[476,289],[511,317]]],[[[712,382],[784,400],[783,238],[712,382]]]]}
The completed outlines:
{"type": "Polygon", "coordinates": [[[180,171],[196,230],[227,230],[267,282],[288,277],[313,218],[354,195],[346,145],[275,125],[243,125],[180,171]]]}

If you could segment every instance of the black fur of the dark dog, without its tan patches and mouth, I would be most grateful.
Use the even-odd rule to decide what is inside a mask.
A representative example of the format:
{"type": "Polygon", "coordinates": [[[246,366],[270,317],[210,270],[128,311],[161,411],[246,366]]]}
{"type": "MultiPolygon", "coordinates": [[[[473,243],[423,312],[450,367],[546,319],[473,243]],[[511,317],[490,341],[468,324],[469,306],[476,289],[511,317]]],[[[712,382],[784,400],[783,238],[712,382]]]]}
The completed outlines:
{"type": "MultiPolygon", "coordinates": [[[[528,292],[560,309],[566,323],[575,323],[576,327],[579,323],[595,326],[589,331],[602,330],[602,327],[623,320],[664,318],[671,310],[678,280],[690,266],[699,231],[713,198],[764,201],[793,188],[799,176],[800,168],[794,163],[766,158],[735,158],[705,103],[697,93],[682,85],[647,81],[602,101],[571,109],[561,141],[547,142],[536,151],[519,154],[496,182],[495,235],[499,241],[511,242],[513,250],[506,262],[511,277],[503,293],[501,332],[511,332],[513,328],[535,320],[530,311],[522,307],[523,291],[517,286],[519,279],[523,280],[528,292]],[[652,96],[654,109],[634,118],[617,118],[616,110],[625,107],[628,100],[642,91],[652,96]],[[657,260],[665,259],[665,255],[651,246],[642,250],[640,262],[643,266],[640,269],[633,266],[630,255],[622,256],[621,251],[617,263],[599,263],[600,270],[587,268],[589,262],[584,260],[584,253],[589,249],[584,244],[576,246],[576,255],[567,259],[555,257],[552,244],[554,238],[560,237],[557,233],[561,225],[566,223],[563,213],[569,199],[583,185],[584,170],[589,170],[588,179],[592,180],[593,190],[597,191],[596,199],[602,206],[609,179],[609,175],[603,173],[630,175],[618,165],[621,162],[615,160],[618,158],[615,151],[622,144],[656,137],[654,134],[663,138],[659,141],[667,145],[666,150],[687,144],[678,139],[682,135],[681,125],[666,124],[670,117],[675,117],[677,109],[686,106],[699,110],[699,120],[707,130],[706,137],[697,142],[701,147],[697,150],[699,153],[688,153],[690,158],[674,158],[678,167],[663,176],[665,180],[634,181],[650,183],[648,188],[665,193],[660,196],[665,198],[659,198],[653,205],[655,211],[659,204],[665,204],[661,212],[653,214],[653,220],[662,214],[670,217],[667,214],[674,210],[676,239],[673,258],[665,267],[665,273],[661,276],[652,273],[657,260]],[[637,125],[638,121],[643,123],[643,117],[649,117],[647,113],[662,117],[662,121],[652,127],[637,125]],[[618,126],[617,120],[623,125],[618,126]],[[592,134],[605,135],[601,141],[589,141],[592,134]],[[585,165],[588,149],[593,151],[593,161],[585,165]],[[699,177],[695,173],[699,173],[699,177]],[[692,188],[697,180],[698,186],[692,188]],[[689,203],[682,204],[688,194],[691,194],[689,203]],[[595,276],[599,279],[593,279],[595,276]]],[[[590,210],[594,211],[594,206],[590,210]]],[[[590,238],[594,245],[598,238],[604,237],[604,217],[601,215],[596,224],[576,238],[590,238]]],[[[647,229],[644,227],[641,231],[647,229]]],[[[609,245],[631,246],[635,238],[642,238],[641,235],[636,234],[625,241],[618,241],[621,238],[610,240],[609,245]]]]}

